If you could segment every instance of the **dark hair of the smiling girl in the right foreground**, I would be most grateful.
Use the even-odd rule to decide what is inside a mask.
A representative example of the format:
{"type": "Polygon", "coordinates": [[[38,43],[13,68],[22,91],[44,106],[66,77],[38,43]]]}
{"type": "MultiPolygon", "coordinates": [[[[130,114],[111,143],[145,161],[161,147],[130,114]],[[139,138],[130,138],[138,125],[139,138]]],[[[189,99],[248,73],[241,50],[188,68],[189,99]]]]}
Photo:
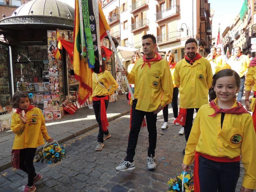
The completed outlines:
{"type": "MultiPolygon", "coordinates": [[[[222,69],[212,77],[213,80],[212,80],[212,87],[210,92],[210,101],[214,100],[217,97],[216,92],[214,91],[214,87],[216,85],[217,79],[219,79],[220,77],[226,77],[226,76],[234,77],[236,80],[236,86],[240,87],[241,79],[240,79],[240,76],[236,73],[236,71],[232,69],[222,69]]],[[[236,98],[236,95],[234,96],[234,98],[236,98]]]]}

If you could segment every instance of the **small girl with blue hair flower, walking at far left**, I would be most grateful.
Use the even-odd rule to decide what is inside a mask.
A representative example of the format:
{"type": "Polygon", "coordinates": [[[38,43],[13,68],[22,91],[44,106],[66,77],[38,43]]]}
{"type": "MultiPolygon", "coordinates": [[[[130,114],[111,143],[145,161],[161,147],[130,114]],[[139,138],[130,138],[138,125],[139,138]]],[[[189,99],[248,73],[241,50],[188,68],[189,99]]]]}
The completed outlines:
{"type": "Polygon", "coordinates": [[[28,173],[28,184],[24,192],[36,191],[34,183],[42,180],[33,165],[36,148],[44,144],[44,139],[47,142],[53,141],[47,133],[42,111],[30,105],[29,99],[32,98],[32,93],[18,91],[11,100],[12,108],[17,109],[11,123],[11,130],[16,134],[12,147],[12,166],[28,173]]]}

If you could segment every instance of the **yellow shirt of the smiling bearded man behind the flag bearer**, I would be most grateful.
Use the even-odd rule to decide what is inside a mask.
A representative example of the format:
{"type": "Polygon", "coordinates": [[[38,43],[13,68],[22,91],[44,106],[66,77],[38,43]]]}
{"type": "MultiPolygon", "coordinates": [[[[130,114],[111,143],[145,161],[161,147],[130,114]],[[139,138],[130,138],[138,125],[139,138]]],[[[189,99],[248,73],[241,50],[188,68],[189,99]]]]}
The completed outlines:
{"type": "Polygon", "coordinates": [[[208,90],[212,86],[210,62],[202,57],[190,65],[185,58],[174,71],[174,82],[180,91],[180,108],[200,108],[208,103],[208,90]]]}

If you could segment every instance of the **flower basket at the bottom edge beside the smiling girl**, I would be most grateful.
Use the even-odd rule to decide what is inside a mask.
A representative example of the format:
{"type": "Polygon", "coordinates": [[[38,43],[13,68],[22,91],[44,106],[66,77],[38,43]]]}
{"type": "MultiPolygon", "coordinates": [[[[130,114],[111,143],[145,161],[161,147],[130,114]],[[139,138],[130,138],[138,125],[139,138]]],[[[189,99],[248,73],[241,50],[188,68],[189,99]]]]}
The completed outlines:
{"type": "Polygon", "coordinates": [[[168,182],[167,192],[194,192],[194,175],[182,172],[180,176],[171,178],[168,182]],[[184,184],[184,186],[182,186],[184,184]]]}

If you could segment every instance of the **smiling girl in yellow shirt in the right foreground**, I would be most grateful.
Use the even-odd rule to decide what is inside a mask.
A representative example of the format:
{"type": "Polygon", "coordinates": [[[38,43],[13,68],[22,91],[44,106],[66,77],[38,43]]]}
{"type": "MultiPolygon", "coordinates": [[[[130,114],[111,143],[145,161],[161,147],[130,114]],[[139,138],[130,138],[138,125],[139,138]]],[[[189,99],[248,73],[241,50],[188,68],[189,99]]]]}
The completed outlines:
{"type": "Polygon", "coordinates": [[[252,116],[239,103],[240,77],[231,69],[213,76],[214,99],[197,112],[185,150],[182,168],[194,165],[195,192],[235,192],[240,174],[240,155],[244,179],[240,192],[256,189],[256,135],[252,116]],[[215,95],[215,98],[214,98],[215,95]]]}

